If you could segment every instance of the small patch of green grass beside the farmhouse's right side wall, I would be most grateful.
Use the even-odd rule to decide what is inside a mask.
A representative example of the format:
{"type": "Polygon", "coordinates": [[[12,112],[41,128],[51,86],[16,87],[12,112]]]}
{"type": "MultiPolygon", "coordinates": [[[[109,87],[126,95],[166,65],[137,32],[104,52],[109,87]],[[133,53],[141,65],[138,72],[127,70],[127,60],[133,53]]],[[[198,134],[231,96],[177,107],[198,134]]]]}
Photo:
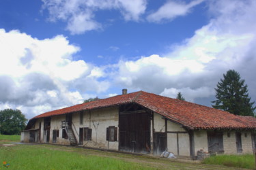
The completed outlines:
{"type": "Polygon", "coordinates": [[[210,158],[205,158],[202,163],[247,169],[255,168],[255,158],[253,154],[211,156],[210,158]]]}

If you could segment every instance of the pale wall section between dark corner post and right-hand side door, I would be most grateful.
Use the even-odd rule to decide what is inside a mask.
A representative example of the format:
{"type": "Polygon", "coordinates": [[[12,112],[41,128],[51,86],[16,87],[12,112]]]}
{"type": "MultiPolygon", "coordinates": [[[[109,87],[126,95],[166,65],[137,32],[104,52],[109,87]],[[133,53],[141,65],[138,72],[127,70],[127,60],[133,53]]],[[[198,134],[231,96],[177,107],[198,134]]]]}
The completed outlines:
{"type": "Polygon", "coordinates": [[[195,155],[197,151],[208,152],[208,139],[206,131],[194,131],[195,155]]]}

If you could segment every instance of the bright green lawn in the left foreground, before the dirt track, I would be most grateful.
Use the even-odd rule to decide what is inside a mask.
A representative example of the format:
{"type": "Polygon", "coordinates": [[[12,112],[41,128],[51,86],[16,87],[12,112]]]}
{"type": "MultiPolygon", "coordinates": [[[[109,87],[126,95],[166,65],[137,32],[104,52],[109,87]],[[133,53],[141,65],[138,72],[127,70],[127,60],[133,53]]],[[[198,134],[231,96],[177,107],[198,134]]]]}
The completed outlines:
{"type": "Polygon", "coordinates": [[[1,164],[3,161],[9,163],[9,169],[150,169],[146,165],[116,158],[53,150],[41,145],[2,146],[0,161],[1,164]]]}

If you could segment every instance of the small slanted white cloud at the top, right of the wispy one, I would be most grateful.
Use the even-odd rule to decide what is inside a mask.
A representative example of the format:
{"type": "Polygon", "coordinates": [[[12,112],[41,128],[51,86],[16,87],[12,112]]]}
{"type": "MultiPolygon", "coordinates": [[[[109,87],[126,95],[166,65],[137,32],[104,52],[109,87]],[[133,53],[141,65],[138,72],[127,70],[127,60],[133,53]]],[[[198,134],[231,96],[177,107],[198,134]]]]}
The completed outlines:
{"type": "Polygon", "coordinates": [[[193,7],[203,2],[203,0],[195,0],[186,4],[184,1],[167,1],[158,11],[147,16],[150,22],[162,22],[164,20],[171,21],[177,16],[185,16],[193,7]]]}

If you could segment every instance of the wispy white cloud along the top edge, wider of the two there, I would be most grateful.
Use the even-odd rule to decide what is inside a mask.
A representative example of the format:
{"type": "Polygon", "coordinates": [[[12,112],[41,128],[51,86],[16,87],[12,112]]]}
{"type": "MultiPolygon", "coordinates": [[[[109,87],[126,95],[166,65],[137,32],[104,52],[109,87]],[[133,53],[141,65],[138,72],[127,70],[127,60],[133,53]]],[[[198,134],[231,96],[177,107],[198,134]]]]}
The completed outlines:
{"type": "Polygon", "coordinates": [[[48,10],[49,20],[68,22],[66,29],[72,34],[81,34],[86,31],[102,29],[94,14],[98,10],[119,10],[125,20],[139,21],[145,13],[146,0],[42,0],[43,9],[48,10]]]}

